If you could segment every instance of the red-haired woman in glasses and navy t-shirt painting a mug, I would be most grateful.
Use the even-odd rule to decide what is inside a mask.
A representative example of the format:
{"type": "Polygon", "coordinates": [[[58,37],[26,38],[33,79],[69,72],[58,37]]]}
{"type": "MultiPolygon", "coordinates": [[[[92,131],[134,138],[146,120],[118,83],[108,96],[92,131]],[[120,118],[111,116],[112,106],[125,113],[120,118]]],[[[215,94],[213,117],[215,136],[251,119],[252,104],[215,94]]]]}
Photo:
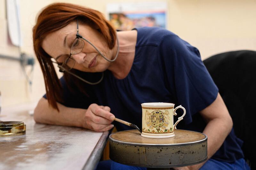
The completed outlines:
{"type": "Polygon", "coordinates": [[[149,27],[116,33],[100,12],[57,3],[38,16],[33,41],[46,86],[36,122],[129,129],[113,122],[117,117],[141,128],[140,103],[171,102],[187,110],[179,129],[208,136],[208,161],[177,169],[245,168],[241,141],[199,51],[174,33],[149,27]],[[64,72],[60,81],[53,63],[64,72]]]}

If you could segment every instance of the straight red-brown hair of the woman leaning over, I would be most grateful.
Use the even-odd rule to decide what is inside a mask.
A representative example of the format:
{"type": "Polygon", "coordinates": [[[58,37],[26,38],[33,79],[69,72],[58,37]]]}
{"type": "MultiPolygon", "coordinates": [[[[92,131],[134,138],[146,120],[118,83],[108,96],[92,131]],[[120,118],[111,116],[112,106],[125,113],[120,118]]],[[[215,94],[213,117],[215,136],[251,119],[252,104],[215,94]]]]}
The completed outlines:
{"type": "Polygon", "coordinates": [[[115,29],[99,11],[67,3],[50,4],[41,11],[33,27],[34,50],[43,71],[47,100],[58,111],[56,101],[62,101],[61,85],[52,65],[52,57],[44,51],[42,43],[48,34],[67,26],[77,18],[97,29],[106,40],[108,48],[114,48],[116,43],[115,29]]]}

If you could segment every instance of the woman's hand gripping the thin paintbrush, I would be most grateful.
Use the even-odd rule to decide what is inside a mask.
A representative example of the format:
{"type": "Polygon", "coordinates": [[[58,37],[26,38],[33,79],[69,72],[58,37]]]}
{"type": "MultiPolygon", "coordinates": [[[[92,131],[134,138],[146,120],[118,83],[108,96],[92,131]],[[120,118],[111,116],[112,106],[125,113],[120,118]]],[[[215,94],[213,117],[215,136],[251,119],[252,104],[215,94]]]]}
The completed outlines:
{"type": "Polygon", "coordinates": [[[111,124],[115,120],[115,115],[110,113],[108,106],[91,104],[85,112],[83,127],[96,132],[104,132],[114,127],[111,124]]]}

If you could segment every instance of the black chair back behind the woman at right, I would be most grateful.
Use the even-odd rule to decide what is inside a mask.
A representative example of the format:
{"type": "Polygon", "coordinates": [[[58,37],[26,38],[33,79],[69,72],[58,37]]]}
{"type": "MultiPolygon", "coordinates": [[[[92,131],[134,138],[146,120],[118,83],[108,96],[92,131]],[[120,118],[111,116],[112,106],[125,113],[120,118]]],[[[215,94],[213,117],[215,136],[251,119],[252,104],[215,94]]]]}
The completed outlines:
{"type": "Polygon", "coordinates": [[[237,137],[251,169],[256,169],[256,51],[231,51],[213,55],[204,65],[219,88],[233,119],[237,137]]]}

